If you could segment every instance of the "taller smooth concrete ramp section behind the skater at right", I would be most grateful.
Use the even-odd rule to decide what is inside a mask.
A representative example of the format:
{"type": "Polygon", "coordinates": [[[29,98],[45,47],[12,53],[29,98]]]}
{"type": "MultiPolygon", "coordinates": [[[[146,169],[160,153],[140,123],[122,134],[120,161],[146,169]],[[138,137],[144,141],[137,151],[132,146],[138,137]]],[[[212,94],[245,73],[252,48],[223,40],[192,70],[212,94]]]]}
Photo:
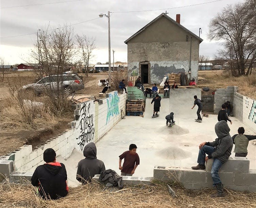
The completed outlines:
{"type": "Polygon", "coordinates": [[[201,99],[201,89],[171,89],[170,112],[174,112],[175,117],[179,118],[197,118],[197,106],[191,110],[194,105],[194,95],[201,99]]]}

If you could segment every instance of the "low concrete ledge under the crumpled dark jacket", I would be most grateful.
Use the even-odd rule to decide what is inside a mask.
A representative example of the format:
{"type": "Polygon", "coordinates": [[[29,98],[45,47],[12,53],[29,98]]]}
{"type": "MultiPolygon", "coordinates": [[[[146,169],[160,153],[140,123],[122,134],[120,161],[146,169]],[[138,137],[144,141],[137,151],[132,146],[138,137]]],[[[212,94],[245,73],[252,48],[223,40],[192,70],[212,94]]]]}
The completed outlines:
{"type": "MultiPolygon", "coordinates": [[[[95,175],[92,178],[93,183],[101,183],[99,181],[99,176],[100,175],[95,175]]],[[[133,177],[133,176],[122,176],[123,177],[123,184],[127,185],[138,185],[138,184],[146,184],[146,185],[151,185],[151,180],[153,179],[152,177],[133,177]]]]}

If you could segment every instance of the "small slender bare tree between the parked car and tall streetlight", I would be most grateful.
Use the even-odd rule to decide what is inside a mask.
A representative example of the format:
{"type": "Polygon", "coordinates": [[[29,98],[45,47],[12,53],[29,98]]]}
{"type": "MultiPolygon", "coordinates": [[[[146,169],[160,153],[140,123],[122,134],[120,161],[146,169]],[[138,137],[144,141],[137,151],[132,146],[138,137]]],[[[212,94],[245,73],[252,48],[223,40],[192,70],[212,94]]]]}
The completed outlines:
{"type": "Polygon", "coordinates": [[[85,75],[88,77],[89,73],[89,63],[90,60],[94,57],[93,50],[96,48],[95,46],[95,38],[89,37],[86,35],[83,36],[76,36],[77,43],[80,49],[80,53],[82,55],[82,59],[84,61],[84,67],[86,67],[85,75]]]}

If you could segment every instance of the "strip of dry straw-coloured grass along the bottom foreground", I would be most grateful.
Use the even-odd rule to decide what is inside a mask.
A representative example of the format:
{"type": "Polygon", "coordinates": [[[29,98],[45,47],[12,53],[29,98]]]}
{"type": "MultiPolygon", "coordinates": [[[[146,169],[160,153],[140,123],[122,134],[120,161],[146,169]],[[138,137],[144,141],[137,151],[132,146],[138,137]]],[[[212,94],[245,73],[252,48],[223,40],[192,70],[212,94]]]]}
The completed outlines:
{"type": "Polygon", "coordinates": [[[108,188],[103,185],[84,185],[70,188],[64,198],[43,200],[32,191],[29,182],[19,184],[5,181],[0,184],[0,207],[27,208],[64,208],[64,207],[132,207],[132,208],[238,208],[256,207],[256,193],[242,193],[226,190],[223,198],[211,198],[210,189],[186,190],[179,186],[172,187],[177,197],[172,198],[166,183],[155,181],[155,185],[126,186],[123,190],[108,188]]]}

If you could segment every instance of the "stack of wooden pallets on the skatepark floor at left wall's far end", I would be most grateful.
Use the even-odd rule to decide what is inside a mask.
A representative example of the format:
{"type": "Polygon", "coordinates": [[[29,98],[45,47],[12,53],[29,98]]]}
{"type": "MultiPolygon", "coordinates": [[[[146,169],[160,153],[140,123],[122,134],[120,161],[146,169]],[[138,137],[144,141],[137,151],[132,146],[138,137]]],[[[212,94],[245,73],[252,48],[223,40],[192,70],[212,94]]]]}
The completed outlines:
{"type": "Polygon", "coordinates": [[[143,115],[144,100],[128,100],[126,102],[127,115],[143,115]]]}

